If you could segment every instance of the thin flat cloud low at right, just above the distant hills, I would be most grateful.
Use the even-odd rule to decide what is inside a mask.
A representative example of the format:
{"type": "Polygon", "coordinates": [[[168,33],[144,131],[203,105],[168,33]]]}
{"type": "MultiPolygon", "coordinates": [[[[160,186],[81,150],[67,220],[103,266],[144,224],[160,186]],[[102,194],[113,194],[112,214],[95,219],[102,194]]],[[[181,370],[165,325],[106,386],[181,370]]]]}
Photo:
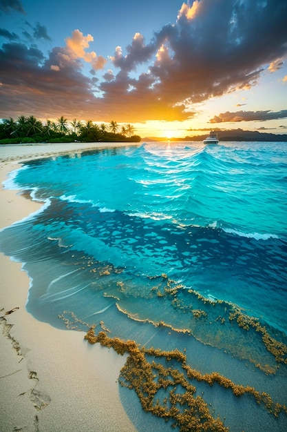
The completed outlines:
{"type": "Polygon", "coordinates": [[[237,112],[222,112],[220,115],[215,115],[213,119],[209,120],[209,123],[223,123],[226,121],[266,121],[266,120],[277,120],[286,119],[287,110],[281,110],[273,112],[270,110],[266,111],[237,111],[237,112]]]}

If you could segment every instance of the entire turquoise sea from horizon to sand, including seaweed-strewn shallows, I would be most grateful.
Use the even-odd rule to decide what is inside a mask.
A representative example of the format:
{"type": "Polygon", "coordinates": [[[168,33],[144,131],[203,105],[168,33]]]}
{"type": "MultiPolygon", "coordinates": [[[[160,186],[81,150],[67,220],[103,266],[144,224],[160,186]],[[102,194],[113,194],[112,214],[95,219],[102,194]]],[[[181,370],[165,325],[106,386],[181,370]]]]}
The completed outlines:
{"type": "Polygon", "coordinates": [[[287,430],[286,143],[115,146],[25,162],[4,186],[43,202],[0,233],[28,312],[145,350],[152,384],[119,384],[138,431],[287,430]]]}

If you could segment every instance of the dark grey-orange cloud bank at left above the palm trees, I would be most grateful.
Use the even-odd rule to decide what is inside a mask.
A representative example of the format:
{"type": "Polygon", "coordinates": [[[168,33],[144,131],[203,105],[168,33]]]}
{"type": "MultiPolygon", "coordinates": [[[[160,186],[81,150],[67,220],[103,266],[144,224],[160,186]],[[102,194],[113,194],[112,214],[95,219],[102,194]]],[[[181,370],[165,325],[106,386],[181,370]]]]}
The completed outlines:
{"type": "Polygon", "coordinates": [[[0,50],[0,65],[2,110],[8,113],[20,115],[22,111],[45,117],[66,112],[72,105],[78,107],[83,101],[88,104],[91,99],[92,81],[81,73],[81,64],[70,61],[61,48],[54,48],[45,59],[37,48],[6,43],[0,50]],[[63,70],[54,63],[59,55],[63,70]]]}

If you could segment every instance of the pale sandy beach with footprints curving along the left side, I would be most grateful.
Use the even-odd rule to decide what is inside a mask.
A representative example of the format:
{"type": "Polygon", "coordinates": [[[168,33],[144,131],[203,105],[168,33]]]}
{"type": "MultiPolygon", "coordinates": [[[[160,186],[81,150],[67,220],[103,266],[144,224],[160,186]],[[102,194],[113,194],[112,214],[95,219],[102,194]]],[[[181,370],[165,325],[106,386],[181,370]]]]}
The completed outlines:
{"type": "MultiPolygon", "coordinates": [[[[0,146],[0,229],[41,206],[3,189],[2,182],[19,167],[18,161],[125,145],[0,146]]],[[[0,266],[0,431],[135,431],[118,394],[125,358],[89,346],[81,332],[35,320],[25,311],[30,281],[21,263],[0,253],[0,266]]]]}

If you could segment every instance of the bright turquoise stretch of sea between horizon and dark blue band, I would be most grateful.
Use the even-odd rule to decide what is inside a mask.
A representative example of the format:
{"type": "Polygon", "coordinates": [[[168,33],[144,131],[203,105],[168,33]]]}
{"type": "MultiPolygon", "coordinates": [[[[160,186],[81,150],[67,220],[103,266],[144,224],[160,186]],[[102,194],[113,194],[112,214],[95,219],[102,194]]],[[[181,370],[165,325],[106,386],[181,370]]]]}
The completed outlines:
{"type": "MultiPolygon", "coordinates": [[[[57,159],[53,169],[47,161],[42,162],[39,172],[45,169],[47,177],[37,184],[34,199],[60,197],[90,203],[103,212],[109,209],[150,217],[162,215],[180,224],[206,226],[220,220],[224,227],[242,233],[284,232],[284,208],[277,205],[284,190],[270,183],[277,182],[282,174],[275,175],[274,164],[266,163],[266,156],[259,156],[257,150],[209,148],[198,143],[148,143],[125,152],[118,150],[103,166],[98,164],[98,153],[83,156],[81,159],[87,159],[85,169],[81,159],[57,159]],[[66,163],[75,165],[73,179],[60,175],[67,172],[66,163]],[[273,177],[268,177],[268,186],[265,177],[270,172],[273,177]],[[47,190],[51,186],[52,190],[47,190]]],[[[106,153],[112,155],[111,150],[106,153]]],[[[278,169],[283,170],[280,166],[278,169]]],[[[33,164],[33,170],[37,167],[33,164]]],[[[23,178],[27,184],[24,172],[19,175],[19,184],[23,178]]]]}

